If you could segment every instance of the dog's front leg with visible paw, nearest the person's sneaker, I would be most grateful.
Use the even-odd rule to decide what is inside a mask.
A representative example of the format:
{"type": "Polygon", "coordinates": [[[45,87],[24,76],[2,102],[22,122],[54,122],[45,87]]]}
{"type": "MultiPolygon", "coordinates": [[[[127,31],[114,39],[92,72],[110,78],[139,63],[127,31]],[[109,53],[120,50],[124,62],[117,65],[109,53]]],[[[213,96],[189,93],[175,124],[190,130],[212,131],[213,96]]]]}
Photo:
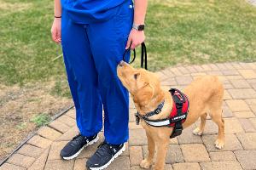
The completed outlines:
{"type": "Polygon", "coordinates": [[[154,140],[147,132],[146,135],[148,139],[148,157],[141,162],[140,166],[148,169],[153,164],[155,145],[154,140]]]}

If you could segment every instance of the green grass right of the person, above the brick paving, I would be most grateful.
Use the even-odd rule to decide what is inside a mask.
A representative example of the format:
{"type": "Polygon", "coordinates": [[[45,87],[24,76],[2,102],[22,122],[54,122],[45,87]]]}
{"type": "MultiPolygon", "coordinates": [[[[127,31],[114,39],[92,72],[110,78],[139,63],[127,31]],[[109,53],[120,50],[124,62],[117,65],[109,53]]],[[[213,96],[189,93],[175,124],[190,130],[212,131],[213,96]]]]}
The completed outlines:
{"type": "Polygon", "coordinates": [[[256,59],[256,8],[244,0],[153,1],[147,19],[153,70],[256,59]]]}

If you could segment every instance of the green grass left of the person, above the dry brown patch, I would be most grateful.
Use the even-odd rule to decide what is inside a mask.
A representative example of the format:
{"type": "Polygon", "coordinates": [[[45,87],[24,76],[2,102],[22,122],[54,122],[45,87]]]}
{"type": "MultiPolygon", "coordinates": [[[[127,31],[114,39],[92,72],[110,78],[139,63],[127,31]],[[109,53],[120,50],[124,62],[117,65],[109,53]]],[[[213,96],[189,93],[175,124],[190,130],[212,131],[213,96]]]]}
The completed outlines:
{"type": "Polygon", "coordinates": [[[61,79],[65,74],[62,60],[52,61],[61,54],[61,47],[50,39],[53,1],[1,2],[13,3],[14,8],[1,9],[0,14],[0,82],[22,85],[49,77],[61,79]],[[28,7],[17,10],[21,4],[28,7]]]}

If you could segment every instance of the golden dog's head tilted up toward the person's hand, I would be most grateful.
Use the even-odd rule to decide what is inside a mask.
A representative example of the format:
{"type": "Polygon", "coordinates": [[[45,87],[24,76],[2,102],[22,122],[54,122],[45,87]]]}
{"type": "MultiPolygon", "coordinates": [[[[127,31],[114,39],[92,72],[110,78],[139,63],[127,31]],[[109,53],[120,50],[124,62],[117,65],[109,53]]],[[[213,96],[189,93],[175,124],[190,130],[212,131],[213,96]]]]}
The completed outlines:
{"type": "Polygon", "coordinates": [[[150,100],[157,98],[160,94],[160,80],[154,73],[132,68],[125,61],[119,63],[117,72],[120,81],[133,96],[134,103],[137,105],[147,105],[150,100]]]}

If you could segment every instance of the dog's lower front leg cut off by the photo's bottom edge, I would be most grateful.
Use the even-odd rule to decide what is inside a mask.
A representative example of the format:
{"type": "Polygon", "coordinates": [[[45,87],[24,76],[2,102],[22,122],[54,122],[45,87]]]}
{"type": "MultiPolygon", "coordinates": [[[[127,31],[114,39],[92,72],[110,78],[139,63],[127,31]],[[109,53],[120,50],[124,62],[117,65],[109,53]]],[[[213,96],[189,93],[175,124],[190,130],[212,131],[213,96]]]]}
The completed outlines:
{"type": "Polygon", "coordinates": [[[156,142],[156,161],[154,164],[154,170],[164,170],[166,163],[166,153],[168,150],[168,140],[167,141],[157,141],[156,142]]]}

